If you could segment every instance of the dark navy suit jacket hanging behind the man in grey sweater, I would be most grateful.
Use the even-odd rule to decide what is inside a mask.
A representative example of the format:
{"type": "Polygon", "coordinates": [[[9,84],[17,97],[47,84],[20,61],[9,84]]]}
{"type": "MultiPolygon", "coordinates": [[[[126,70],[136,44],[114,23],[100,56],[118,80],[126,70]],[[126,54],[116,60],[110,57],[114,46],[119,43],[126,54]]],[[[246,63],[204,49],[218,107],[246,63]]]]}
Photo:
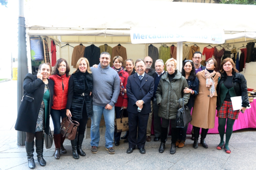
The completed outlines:
{"type": "Polygon", "coordinates": [[[94,44],[86,47],[84,49],[84,57],[88,59],[90,66],[93,66],[94,64],[98,65],[100,63],[100,48],[96,47],[94,44]]]}

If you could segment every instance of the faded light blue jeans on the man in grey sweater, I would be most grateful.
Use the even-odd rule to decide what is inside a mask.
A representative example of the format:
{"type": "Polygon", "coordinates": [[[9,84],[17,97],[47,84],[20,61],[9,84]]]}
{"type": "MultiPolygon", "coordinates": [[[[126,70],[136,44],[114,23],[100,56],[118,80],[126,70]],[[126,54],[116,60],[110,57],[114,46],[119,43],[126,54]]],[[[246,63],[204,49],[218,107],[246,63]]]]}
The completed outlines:
{"type": "Polygon", "coordinates": [[[106,132],[105,132],[105,140],[106,144],[105,147],[113,147],[113,138],[114,138],[114,131],[115,131],[115,107],[112,107],[111,110],[105,109],[103,106],[93,105],[93,116],[92,125],[91,125],[91,146],[99,146],[100,142],[100,120],[101,115],[103,113],[105,125],[106,125],[106,132]]]}

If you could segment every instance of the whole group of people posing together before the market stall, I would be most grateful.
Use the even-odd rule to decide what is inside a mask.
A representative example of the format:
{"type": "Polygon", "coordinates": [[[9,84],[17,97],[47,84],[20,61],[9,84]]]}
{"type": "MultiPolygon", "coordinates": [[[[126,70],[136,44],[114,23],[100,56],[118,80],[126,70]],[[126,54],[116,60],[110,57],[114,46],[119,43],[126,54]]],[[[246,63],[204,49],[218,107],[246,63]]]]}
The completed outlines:
{"type": "Polygon", "coordinates": [[[118,146],[120,138],[129,142],[127,153],[132,153],[136,145],[140,153],[146,153],[144,146],[146,140],[151,140],[153,115],[154,141],[161,141],[159,152],[164,152],[171,123],[170,153],[174,154],[176,146],[183,147],[186,140],[187,126],[175,126],[176,114],[183,100],[189,111],[193,107],[193,147],[198,147],[202,128],[200,144],[208,148],[205,137],[208,129],[214,128],[217,106],[220,133],[217,149],[224,147],[230,153],[228,141],[233,124],[238,119],[239,112],[244,112],[249,106],[246,80],[238,73],[230,58],[222,61],[220,73],[214,71],[217,66],[214,58],[206,61],[206,67],[200,64],[201,60],[202,54],[195,52],[193,61],[186,60],[180,72],[176,69],[177,61],[173,58],[165,63],[161,59],[156,60],[155,69],[152,69],[153,60],[149,56],[143,60],[138,59],[135,63],[132,59],[123,61],[121,56],[115,56],[113,66],[110,67],[110,54],[102,52],[100,63],[92,67],[86,58],[80,58],[71,76],[68,63],[63,58],[57,61],[53,70],[51,64],[41,64],[37,75],[28,73],[24,79],[24,96],[15,125],[16,130],[26,132],[28,166],[35,168],[34,138],[37,160],[41,166],[46,165],[43,158],[43,131],[49,133],[50,115],[54,125],[55,159],[60,158],[60,153],[67,153],[63,146],[65,137],[60,133],[61,119],[71,116],[72,120],[80,123],[76,138],[71,140],[73,157],[79,159],[79,155],[85,156],[82,143],[88,118],[92,120],[91,152],[98,152],[102,114],[106,125],[105,147],[110,154],[115,153],[113,139],[118,146]],[[122,66],[124,62],[126,70],[122,66]],[[230,98],[235,96],[242,96],[242,107],[234,111],[230,98]],[[124,137],[114,131],[115,115],[119,118],[122,109],[127,110],[129,118],[129,131],[124,137]]]}

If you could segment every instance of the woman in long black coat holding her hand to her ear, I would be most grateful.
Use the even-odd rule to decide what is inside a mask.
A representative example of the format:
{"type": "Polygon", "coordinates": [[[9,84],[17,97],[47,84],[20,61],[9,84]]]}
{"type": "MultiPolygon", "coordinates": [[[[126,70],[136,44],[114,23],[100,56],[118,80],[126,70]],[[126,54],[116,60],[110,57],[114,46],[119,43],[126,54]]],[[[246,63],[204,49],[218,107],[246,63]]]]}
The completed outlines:
{"type": "Polygon", "coordinates": [[[34,138],[36,137],[37,161],[41,166],[46,162],[43,158],[43,131],[49,134],[50,111],[53,98],[54,82],[48,77],[52,72],[50,63],[39,66],[37,75],[28,73],[24,79],[24,96],[19,108],[15,129],[26,132],[26,152],[28,166],[36,167],[33,158],[34,138]]]}

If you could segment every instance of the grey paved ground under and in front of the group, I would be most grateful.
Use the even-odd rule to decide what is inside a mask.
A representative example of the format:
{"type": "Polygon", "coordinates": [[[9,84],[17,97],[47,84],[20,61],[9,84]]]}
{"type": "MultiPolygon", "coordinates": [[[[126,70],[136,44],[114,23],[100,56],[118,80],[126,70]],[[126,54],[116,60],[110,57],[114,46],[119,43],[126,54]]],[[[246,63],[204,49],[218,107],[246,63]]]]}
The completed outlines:
{"type": "MultiPolygon", "coordinates": [[[[0,83],[0,169],[29,169],[26,157],[25,146],[17,145],[17,131],[14,125],[17,117],[17,81],[7,81],[0,83]]],[[[161,169],[161,170],[256,170],[256,129],[244,129],[235,131],[230,139],[231,154],[227,154],[224,149],[217,150],[220,137],[218,134],[208,134],[206,143],[208,149],[204,149],[200,144],[197,149],[192,147],[191,135],[187,135],[187,140],[183,148],[177,148],[176,153],[171,155],[171,136],[168,136],[164,153],[159,153],[160,142],[146,142],[146,154],[140,154],[136,149],[131,154],[127,154],[127,143],[120,141],[119,146],[114,146],[115,154],[109,154],[105,149],[105,128],[100,128],[100,144],[98,153],[91,153],[90,129],[83,142],[82,148],[86,153],[85,157],[74,159],[69,140],[65,140],[64,147],[67,154],[61,154],[60,159],[54,159],[54,144],[51,149],[44,148],[44,159],[47,164],[41,167],[36,163],[35,169],[161,169]]]]}

